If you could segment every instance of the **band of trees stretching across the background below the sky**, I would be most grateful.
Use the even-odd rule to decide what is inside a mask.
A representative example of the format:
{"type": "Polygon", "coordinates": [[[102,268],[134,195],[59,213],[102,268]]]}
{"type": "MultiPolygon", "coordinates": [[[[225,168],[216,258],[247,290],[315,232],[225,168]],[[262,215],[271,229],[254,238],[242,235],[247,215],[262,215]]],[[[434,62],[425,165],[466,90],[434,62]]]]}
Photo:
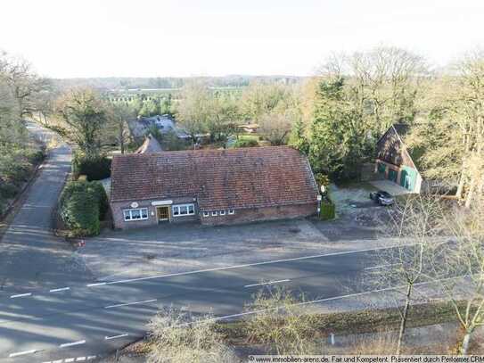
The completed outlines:
{"type": "Polygon", "coordinates": [[[423,177],[454,185],[466,206],[484,194],[482,52],[436,71],[418,54],[379,46],[333,54],[315,77],[298,82],[256,78],[226,92],[203,78],[185,79],[176,99],[131,103],[112,102],[92,87],[54,87],[28,62],[7,59],[0,63],[3,135],[22,132],[32,115],[91,157],[109,144],[124,152],[127,121],[137,116],[168,113],[193,142],[206,135],[222,147],[250,123],[267,144],[291,144],[308,155],[316,174],[338,181],[358,178],[383,133],[404,123],[411,129],[406,147],[423,177]]]}

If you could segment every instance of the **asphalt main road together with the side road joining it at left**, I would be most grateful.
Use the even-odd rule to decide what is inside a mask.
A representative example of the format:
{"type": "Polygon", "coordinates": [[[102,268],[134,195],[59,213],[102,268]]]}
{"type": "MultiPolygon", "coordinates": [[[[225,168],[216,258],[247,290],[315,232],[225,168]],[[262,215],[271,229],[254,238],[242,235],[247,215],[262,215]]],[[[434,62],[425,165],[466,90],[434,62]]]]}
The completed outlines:
{"type": "MultiPolygon", "coordinates": [[[[34,130],[36,131],[36,130],[34,130]]],[[[37,130],[37,132],[40,132],[37,130]]],[[[0,361],[82,361],[132,342],[162,307],[217,317],[242,312],[265,283],[307,300],[368,290],[374,252],[341,252],[215,270],[91,284],[69,244],[51,231],[70,170],[70,148],[54,149],[0,243],[0,361]],[[77,358],[78,360],[70,360],[77,358]]]]}

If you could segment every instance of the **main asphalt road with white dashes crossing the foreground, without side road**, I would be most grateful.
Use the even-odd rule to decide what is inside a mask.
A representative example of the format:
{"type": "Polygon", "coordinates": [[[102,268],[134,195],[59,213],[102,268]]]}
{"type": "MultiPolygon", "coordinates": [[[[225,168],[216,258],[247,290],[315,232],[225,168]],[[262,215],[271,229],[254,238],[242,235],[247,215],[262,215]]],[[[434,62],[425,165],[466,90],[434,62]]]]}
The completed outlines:
{"type": "Polygon", "coordinates": [[[373,252],[344,253],[105,285],[59,285],[63,290],[40,289],[14,298],[3,295],[0,357],[37,351],[11,358],[31,362],[102,355],[142,335],[146,322],[162,307],[217,317],[238,314],[259,284],[269,282],[303,292],[308,301],[356,293],[364,268],[375,263],[373,252]],[[62,347],[72,342],[79,344],[62,347]]]}

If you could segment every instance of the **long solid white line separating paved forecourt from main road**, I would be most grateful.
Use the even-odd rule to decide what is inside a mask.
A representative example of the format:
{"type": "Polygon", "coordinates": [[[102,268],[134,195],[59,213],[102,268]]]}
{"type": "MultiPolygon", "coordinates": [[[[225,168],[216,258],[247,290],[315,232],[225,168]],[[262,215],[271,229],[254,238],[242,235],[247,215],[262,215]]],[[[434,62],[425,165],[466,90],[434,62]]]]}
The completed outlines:
{"type": "MultiPolygon", "coordinates": [[[[413,244],[408,244],[408,245],[411,246],[413,244]]],[[[312,255],[312,256],[295,257],[295,258],[292,258],[292,259],[269,260],[269,261],[262,261],[262,262],[246,263],[246,264],[242,264],[242,265],[226,266],[226,267],[222,267],[222,268],[206,268],[206,269],[198,269],[198,270],[194,270],[194,271],[176,272],[176,273],[173,273],[173,274],[166,274],[166,275],[129,278],[129,279],[126,279],[126,280],[118,280],[118,281],[89,284],[89,285],[86,285],[86,287],[102,286],[102,285],[115,285],[115,284],[127,284],[127,283],[133,283],[133,282],[136,282],[136,281],[152,280],[154,278],[172,277],[172,276],[185,276],[185,275],[200,274],[200,273],[203,273],[203,272],[224,271],[224,270],[227,270],[227,269],[235,269],[235,268],[250,268],[252,266],[270,265],[270,264],[273,264],[273,263],[280,263],[280,262],[309,260],[309,259],[317,259],[317,258],[321,258],[321,257],[339,256],[339,255],[352,254],[352,253],[388,250],[388,249],[394,248],[396,246],[397,245],[387,246],[387,247],[367,248],[367,249],[355,250],[355,251],[331,252],[331,253],[324,253],[324,254],[316,254],[316,255],[312,255]]]]}

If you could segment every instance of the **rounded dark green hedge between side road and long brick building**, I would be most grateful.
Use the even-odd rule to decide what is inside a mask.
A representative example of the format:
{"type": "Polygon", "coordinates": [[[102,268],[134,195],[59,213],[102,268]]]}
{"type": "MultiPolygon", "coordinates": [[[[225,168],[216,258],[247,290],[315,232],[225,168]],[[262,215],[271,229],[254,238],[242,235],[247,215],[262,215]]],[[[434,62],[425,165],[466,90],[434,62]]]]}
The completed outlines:
{"type": "Polygon", "coordinates": [[[61,217],[74,235],[98,235],[100,220],[108,208],[108,198],[99,182],[72,181],[62,191],[61,217]]]}

